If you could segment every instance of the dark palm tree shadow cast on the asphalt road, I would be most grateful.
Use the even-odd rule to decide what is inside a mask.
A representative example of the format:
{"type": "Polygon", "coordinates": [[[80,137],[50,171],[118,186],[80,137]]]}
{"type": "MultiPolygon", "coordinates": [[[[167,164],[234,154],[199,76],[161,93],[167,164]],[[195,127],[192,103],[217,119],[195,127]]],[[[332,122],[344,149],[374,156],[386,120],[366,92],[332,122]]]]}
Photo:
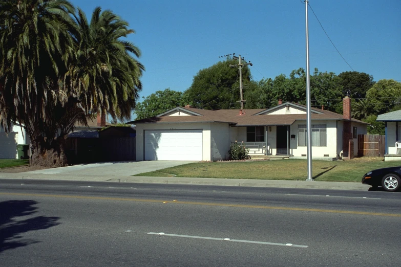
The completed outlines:
{"type": "Polygon", "coordinates": [[[24,238],[23,233],[59,225],[59,217],[32,217],[38,212],[35,207],[37,204],[38,202],[32,200],[0,202],[0,253],[40,242],[24,238]]]}

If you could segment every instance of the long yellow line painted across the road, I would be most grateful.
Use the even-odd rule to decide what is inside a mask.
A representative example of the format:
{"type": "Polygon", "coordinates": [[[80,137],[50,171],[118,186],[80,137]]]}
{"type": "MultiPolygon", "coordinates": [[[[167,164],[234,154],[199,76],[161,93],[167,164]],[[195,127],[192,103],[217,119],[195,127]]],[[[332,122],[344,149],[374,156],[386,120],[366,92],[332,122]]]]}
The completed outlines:
{"type": "Polygon", "coordinates": [[[314,212],[330,212],[330,213],[346,213],[346,214],[359,214],[359,215],[401,217],[401,214],[394,214],[394,213],[376,213],[376,212],[348,211],[348,210],[324,210],[324,209],[288,208],[288,207],[239,205],[239,204],[224,204],[224,203],[206,203],[206,202],[189,202],[189,201],[163,201],[163,200],[158,200],[158,199],[139,199],[139,198],[102,197],[102,196],[51,195],[51,194],[25,194],[25,193],[0,193],[0,195],[100,199],[100,200],[114,200],[114,201],[153,202],[153,203],[204,205],[204,206],[235,207],[235,208],[270,209],[270,210],[293,210],[293,211],[314,211],[314,212]]]}

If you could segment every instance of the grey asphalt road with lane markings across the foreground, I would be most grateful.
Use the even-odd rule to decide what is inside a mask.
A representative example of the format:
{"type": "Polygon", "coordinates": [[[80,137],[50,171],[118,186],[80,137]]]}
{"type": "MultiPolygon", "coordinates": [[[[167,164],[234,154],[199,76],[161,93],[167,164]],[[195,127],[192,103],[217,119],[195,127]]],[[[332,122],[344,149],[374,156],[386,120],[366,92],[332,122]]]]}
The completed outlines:
{"type": "Polygon", "coordinates": [[[400,207],[382,191],[0,180],[0,265],[398,266],[400,207]]]}

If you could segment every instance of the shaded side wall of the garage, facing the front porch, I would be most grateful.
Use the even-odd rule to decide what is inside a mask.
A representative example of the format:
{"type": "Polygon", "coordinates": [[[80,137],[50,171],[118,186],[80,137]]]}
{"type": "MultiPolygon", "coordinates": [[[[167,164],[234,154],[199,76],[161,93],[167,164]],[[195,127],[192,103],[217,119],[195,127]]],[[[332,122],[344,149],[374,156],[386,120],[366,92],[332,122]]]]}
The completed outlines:
{"type": "Polygon", "coordinates": [[[228,123],[210,124],[211,161],[225,160],[230,148],[228,123]]]}

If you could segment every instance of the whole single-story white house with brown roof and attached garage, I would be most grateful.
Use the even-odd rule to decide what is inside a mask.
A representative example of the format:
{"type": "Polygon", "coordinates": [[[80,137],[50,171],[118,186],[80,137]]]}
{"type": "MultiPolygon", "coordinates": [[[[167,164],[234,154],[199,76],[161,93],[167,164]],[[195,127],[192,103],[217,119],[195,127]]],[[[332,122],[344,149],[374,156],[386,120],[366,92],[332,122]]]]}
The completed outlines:
{"type": "MultiPolygon", "coordinates": [[[[344,115],[311,108],[312,158],[357,155],[357,135],[368,123],[351,119],[350,98],[344,115]],[[355,143],[355,144],[354,144],[355,143]]],[[[251,157],[306,159],[306,106],[282,103],[268,109],[205,110],[176,107],[136,125],[137,160],[217,161],[227,158],[234,142],[244,142],[251,157]]]]}

